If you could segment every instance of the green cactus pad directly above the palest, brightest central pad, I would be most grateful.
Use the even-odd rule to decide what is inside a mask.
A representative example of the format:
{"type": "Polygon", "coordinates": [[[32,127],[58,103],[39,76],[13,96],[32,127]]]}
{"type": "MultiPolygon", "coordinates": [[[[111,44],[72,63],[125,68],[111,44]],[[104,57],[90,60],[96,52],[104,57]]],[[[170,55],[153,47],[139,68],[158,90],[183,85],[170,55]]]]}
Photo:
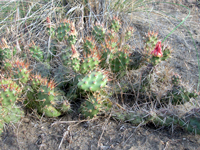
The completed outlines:
{"type": "Polygon", "coordinates": [[[94,70],[99,64],[99,60],[96,58],[87,58],[83,61],[82,65],[81,65],[81,73],[82,74],[86,74],[89,71],[94,70]]]}

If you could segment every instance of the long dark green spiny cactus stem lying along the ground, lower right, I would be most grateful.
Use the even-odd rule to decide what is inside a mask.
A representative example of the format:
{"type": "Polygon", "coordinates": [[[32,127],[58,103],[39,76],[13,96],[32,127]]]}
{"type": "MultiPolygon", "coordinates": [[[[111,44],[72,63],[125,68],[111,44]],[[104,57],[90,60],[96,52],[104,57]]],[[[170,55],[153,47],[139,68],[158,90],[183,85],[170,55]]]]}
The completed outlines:
{"type": "Polygon", "coordinates": [[[181,118],[167,110],[158,110],[151,113],[144,111],[113,112],[113,117],[129,121],[134,125],[145,125],[149,122],[152,122],[156,127],[176,125],[186,131],[200,134],[199,112],[196,112],[195,116],[186,113],[181,118]]]}

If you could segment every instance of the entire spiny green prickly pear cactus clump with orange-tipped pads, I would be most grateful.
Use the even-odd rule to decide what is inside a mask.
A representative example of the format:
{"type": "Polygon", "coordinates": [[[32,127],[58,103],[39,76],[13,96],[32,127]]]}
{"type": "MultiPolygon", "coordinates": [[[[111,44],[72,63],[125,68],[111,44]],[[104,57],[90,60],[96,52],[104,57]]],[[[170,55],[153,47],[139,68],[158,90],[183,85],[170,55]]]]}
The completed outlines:
{"type": "MultiPolygon", "coordinates": [[[[69,112],[71,108],[68,99],[75,100],[80,97],[81,99],[86,97],[79,109],[84,117],[93,118],[107,113],[116,103],[110,100],[114,94],[120,93],[123,97],[124,92],[130,89],[142,94],[144,91],[151,91],[149,86],[151,74],[157,65],[161,61],[166,61],[171,54],[171,49],[163,46],[158,40],[157,33],[149,32],[145,38],[144,51],[138,57],[138,53],[131,49],[127,42],[134,32],[133,28],[123,30],[122,23],[117,17],[113,18],[108,28],[96,24],[92,28],[90,37],[86,37],[81,44],[77,42],[75,24],[71,21],[64,20],[56,26],[47,18],[47,23],[47,31],[53,42],[50,44],[51,47],[48,47],[48,52],[46,51],[47,55],[45,50],[35,46],[34,43],[29,48],[30,60],[35,60],[37,65],[43,64],[40,71],[37,67],[31,68],[32,65],[20,59],[8,61],[15,52],[7,49],[8,46],[0,47],[2,64],[9,64],[6,69],[4,68],[7,74],[0,79],[0,133],[4,123],[17,122],[23,116],[23,111],[16,105],[20,98],[23,99],[20,102],[26,108],[36,109],[39,114],[44,114],[46,117],[58,117],[69,112]],[[65,46],[60,46],[62,44],[65,46]],[[77,48],[77,45],[82,47],[77,48]],[[35,72],[33,73],[30,68],[35,72]],[[137,82],[137,85],[127,83],[125,76],[133,68],[138,70],[142,68],[141,81],[137,82]],[[41,70],[45,72],[44,75],[41,70]],[[118,83],[117,86],[115,81],[118,83]]],[[[164,98],[161,97],[162,104],[168,101],[176,106],[198,96],[180,84],[178,75],[172,76],[171,81],[173,87],[164,98]]],[[[156,94],[152,92],[152,95],[156,94]]],[[[119,104],[116,106],[120,110],[123,109],[119,104]]],[[[200,133],[197,127],[199,120],[195,117],[187,118],[186,126],[185,118],[161,111],[150,114],[142,111],[126,113],[114,110],[113,112],[115,117],[129,120],[135,125],[148,122],[153,122],[157,126],[176,124],[188,131],[195,129],[200,133]]]]}

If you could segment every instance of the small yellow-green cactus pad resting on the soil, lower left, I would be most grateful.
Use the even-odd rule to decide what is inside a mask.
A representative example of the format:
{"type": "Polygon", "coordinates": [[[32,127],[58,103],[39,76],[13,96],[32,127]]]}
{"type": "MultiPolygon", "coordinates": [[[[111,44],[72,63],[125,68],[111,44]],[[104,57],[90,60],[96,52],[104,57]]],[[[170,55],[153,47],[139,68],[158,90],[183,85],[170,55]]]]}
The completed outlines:
{"type": "Polygon", "coordinates": [[[42,108],[42,112],[45,114],[45,116],[47,117],[58,117],[61,115],[61,113],[56,110],[55,107],[51,106],[51,105],[46,105],[42,108]]]}

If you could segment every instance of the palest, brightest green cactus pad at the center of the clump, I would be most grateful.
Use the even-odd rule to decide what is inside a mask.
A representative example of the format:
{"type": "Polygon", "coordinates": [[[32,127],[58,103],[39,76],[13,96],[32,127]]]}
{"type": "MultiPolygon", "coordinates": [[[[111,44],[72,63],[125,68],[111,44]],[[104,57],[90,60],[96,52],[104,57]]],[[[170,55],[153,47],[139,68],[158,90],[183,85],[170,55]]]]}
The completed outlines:
{"type": "Polygon", "coordinates": [[[78,83],[78,87],[85,91],[98,91],[106,85],[107,80],[102,72],[92,72],[78,83]]]}

